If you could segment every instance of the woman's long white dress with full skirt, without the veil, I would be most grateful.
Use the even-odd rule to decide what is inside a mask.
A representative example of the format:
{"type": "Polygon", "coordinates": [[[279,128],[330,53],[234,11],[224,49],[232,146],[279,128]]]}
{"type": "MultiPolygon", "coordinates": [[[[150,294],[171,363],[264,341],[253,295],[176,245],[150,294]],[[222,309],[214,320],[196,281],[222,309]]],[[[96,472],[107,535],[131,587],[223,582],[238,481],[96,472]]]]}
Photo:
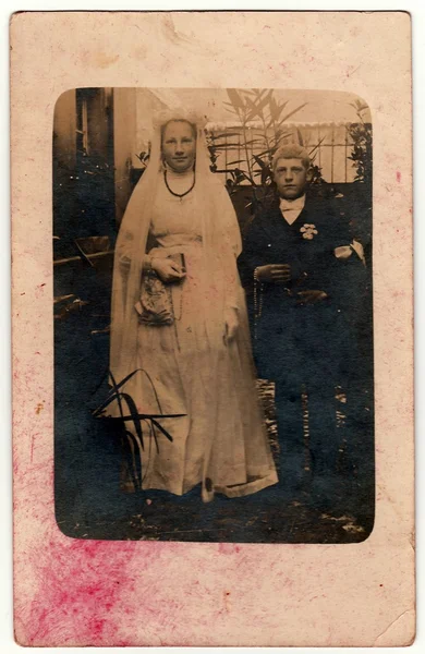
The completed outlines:
{"type": "MultiPolygon", "coordinates": [[[[191,175],[169,174],[172,189],[190,187],[191,175]]],[[[211,340],[208,326],[214,323],[217,293],[223,286],[216,276],[211,278],[205,262],[198,199],[196,186],[179,198],[168,191],[162,177],[158,181],[150,218],[157,246],[149,254],[183,253],[186,277],[171,287],[174,323],[138,326],[134,370],[143,368],[151,384],[147,375],[137,374],[125,391],[139,412],[185,414],[159,421],[173,439],[169,443],[157,432],[159,451],[145,429],[143,488],[182,495],[204,482],[211,497],[214,492],[235,497],[255,493],[278,479],[257,404],[239,278],[232,279],[226,291],[226,305],[240,316],[236,337],[226,343],[222,324],[212,331],[211,340]]]]}

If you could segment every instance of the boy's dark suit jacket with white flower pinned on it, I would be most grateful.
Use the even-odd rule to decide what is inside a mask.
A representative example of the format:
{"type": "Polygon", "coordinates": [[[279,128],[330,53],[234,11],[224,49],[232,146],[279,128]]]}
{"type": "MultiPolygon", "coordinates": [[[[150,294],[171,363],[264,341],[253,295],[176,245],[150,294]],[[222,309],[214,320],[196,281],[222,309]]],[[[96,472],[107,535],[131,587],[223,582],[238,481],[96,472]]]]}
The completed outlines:
{"type": "Polygon", "coordinates": [[[329,199],[307,196],[292,225],[282,217],[278,198],[254,218],[238,265],[247,291],[256,337],[254,353],[262,376],[278,378],[293,374],[317,383],[317,376],[338,376],[340,363],[352,350],[350,322],[345,316],[353,292],[349,270],[354,266],[362,272],[363,265],[355,253],[341,262],[333,251],[351,242],[349,220],[329,199]],[[312,239],[301,231],[308,230],[308,226],[317,231],[312,239]],[[263,284],[262,315],[254,326],[254,270],[267,264],[289,264],[292,278],[284,287],[263,284]],[[296,293],[302,290],[321,290],[328,298],[318,304],[300,305],[296,293]]]}

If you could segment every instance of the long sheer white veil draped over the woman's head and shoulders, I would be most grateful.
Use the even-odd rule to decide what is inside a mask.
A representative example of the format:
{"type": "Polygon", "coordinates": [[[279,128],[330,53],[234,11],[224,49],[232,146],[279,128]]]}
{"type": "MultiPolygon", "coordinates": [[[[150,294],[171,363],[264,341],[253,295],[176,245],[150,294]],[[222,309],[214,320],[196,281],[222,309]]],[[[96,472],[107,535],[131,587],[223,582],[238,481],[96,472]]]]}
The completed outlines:
{"type": "MultiPolygon", "coordinates": [[[[175,113],[169,116],[170,119],[191,120],[175,113]]],[[[134,306],[138,301],[153,204],[162,170],[160,130],[168,120],[162,116],[154,124],[149,162],[131,195],[116,244],[110,370],[117,380],[132,372],[136,355],[138,323],[134,306]]],[[[197,120],[196,123],[196,195],[203,218],[205,263],[211,278],[221,287],[217,288],[214,299],[216,306],[208,326],[212,337],[212,332],[222,325],[224,307],[236,306],[241,301],[235,264],[241,252],[241,235],[230,197],[221,181],[210,171],[205,129],[199,122],[197,120]]]]}

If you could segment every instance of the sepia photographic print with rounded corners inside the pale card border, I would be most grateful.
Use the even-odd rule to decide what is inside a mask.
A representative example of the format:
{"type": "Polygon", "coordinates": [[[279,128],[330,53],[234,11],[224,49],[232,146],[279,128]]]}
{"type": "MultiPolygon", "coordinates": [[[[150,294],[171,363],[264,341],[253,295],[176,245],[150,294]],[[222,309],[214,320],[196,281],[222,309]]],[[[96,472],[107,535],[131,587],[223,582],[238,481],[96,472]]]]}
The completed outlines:
{"type": "Polygon", "coordinates": [[[367,98],[73,88],[56,102],[52,162],[61,532],[365,541],[367,98]]]}

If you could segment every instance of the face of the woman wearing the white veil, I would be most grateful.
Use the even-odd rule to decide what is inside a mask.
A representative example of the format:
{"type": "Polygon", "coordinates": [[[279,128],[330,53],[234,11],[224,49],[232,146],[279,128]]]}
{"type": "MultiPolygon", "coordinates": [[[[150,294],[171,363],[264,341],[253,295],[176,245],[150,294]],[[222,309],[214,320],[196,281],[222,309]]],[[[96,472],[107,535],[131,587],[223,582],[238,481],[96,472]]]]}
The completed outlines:
{"type": "Polygon", "coordinates": [[[175,172],[193,168],[196,138],[192,125],[185,121],[170,121],[162,135],[162,157],[175,172]]]}

